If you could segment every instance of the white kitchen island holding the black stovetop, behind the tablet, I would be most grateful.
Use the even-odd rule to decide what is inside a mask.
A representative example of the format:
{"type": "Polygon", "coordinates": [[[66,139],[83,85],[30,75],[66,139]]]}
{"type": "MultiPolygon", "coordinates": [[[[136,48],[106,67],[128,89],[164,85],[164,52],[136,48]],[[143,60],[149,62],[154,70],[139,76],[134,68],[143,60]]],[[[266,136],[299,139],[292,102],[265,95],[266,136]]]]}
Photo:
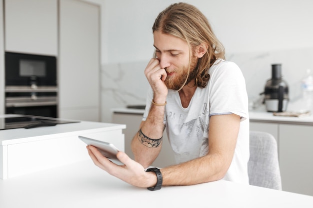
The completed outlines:
{"type": "MultiPolygon", "coordinates": [[[[2,115],[0,119],[14,115],[2,115]]],[[[0,179],[89,160],[78,135],[113,143],[124,151],[122,124],[79,121],[32,129],[0,130],[0,179]]]]}

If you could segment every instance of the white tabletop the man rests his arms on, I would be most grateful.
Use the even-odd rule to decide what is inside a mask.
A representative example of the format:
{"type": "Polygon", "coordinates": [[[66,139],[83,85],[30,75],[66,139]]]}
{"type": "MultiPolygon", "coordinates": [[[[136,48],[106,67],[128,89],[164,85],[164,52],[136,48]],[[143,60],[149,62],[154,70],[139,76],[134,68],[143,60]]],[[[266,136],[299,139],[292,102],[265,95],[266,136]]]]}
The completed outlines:
{"type": "Polygon", "coordinates": [[[0,180],[0,208],[312,208],[313,197],[216,181],[162,187],[128,185],[91,160],[0,180]]]}

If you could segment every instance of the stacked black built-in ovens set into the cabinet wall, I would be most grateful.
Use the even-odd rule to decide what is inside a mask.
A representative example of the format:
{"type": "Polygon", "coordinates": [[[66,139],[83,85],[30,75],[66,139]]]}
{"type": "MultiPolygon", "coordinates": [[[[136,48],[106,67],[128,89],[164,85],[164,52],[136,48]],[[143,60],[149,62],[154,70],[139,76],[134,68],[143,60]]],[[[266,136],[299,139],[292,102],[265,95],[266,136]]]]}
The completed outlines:
{"type": "Polygon", "coordinates": [[[5,52],[5,113],[57,117],[56,57],[5,52]]]}

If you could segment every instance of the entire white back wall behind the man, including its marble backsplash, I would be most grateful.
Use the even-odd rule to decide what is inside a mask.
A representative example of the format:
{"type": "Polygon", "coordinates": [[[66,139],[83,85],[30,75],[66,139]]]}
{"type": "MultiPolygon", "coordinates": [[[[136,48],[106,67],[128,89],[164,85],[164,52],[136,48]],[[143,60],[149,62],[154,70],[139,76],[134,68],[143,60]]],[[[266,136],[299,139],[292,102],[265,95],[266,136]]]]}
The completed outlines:
{"type": "MultiPolygon", "coordinates": [[[[251,102],[260,100],[271,64],[282,64],[289,84],[288,110],[298,110],[300,80],[313,69],[312,0],[185,0],[209,19],[245,77],[251,102]]],[[[104,0],[101,121],[110,109],[145,104],[143,70],[152,57],[151,27],[158,13],[176,0],[104,0]]],[[[254,102],[255,103],[255,102],[254,102]]]]}

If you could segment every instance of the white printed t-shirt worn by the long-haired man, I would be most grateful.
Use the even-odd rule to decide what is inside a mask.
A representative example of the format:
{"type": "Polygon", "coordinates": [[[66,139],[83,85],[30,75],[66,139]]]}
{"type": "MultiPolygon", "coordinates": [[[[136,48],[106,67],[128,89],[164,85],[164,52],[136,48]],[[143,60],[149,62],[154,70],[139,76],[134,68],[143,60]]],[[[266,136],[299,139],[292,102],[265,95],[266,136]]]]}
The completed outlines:
{"type": "MultiPolygon", "coordinates": [[[[234,156],[224,180],[248,184],[249,117],[243,75],[235,63],[225,60],[217,60],[208,73],[207,86],[196,88],[187,108],[181,106],[177,91],[168,90],[164,123],[175,161],[178,164],[206,155],[209,117],[234,113],[241,117],[240,127],[234,156]]],[[[150,88],[142,120],[148,115],[152,96],[150,88]]]]}

